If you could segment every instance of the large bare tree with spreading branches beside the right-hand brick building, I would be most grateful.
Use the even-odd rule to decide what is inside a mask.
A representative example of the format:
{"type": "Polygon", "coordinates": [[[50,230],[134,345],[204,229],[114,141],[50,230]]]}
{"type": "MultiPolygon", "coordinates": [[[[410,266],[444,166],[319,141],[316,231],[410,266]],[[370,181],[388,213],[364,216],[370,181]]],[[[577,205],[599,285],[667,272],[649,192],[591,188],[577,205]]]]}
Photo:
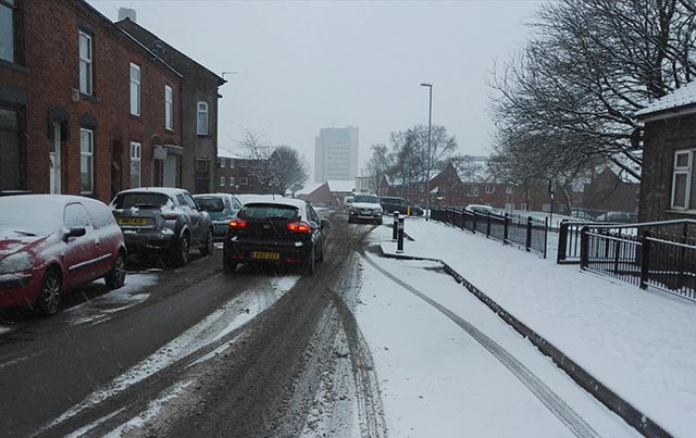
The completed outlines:
{"type": "Polygon", "coordinates": [[[533,164],[525,178],[597,159],[639,178],[634,114],[694,77],[695,16],[686,0],[545,3],[534,37],[490,83],[495,153],[533,164]]]}

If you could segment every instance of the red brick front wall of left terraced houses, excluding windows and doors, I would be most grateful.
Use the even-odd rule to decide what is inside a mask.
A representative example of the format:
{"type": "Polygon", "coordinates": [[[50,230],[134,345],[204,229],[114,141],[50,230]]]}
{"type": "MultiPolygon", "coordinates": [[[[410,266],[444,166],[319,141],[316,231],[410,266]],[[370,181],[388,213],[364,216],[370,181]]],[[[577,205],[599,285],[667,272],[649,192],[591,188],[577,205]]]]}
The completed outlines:
{"type": "Polygon", "coordinates": [[[111,198],[111,146],[121,139],[122,188],[129,185],[129,142],[142,143],[142,185],[152,182],[154,142],[179,145],[179,77],[127,40],[109,22],[78,0],[32,0],[23,8],[24,66],[28,74],[0,66],[0,82],[21,87],[28,96],[26,108],[27,188],[49,191],[48,110],[64,108],[70,114],[70,138],[63,142],[62,191],[79,195],[79,118],[91,115],[98,123],[94,148],[94,197],[111,198]],[[78,26],[94,30],[94,98],[71,99],[79,88],[78,26]],[[129,63],[140,65],[140,117],[129,115],[129,63]],[[174,90],[174,129],[164,129],[164,84],[174,90]]]}

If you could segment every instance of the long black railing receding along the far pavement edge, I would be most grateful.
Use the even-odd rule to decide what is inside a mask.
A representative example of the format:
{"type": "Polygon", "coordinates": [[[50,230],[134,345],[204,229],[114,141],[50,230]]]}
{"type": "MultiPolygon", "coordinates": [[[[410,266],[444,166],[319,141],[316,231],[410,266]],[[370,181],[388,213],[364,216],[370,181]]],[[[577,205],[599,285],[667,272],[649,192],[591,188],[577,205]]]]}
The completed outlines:
{"type": "Polygon", "coordinates": [[[483,234],[502,243],[517,245],[526,251],[537,252],[546,259],[546,242],[548,239],[548,218],[535,218],[517,214],[482,214],[455,209],[450,207],[434,207],[431,209],[434,221],[455,225],[461,229],[469,229],[483,234]]]}

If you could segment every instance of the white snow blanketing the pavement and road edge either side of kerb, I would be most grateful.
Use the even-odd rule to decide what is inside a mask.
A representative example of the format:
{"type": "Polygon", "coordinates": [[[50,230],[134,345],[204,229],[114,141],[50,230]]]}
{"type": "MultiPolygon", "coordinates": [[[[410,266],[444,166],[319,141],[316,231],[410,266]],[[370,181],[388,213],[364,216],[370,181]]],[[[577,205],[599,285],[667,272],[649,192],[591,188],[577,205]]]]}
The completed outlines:
{"type": "MultiPolygon", "coordinates": [[[[481,235],[423,220],[407,221],[406,233],[414,240],[405,242],[402,255],[442,260],[669,434],[693,436],[696,424],[693,302],[657,290],[642,291],[582,272],[575,265],[557,265],[552,256],[556,248],[549,248],[549,259],[543,260],[481,235]]],[[[371,239],[383,252],[396,252],[390,227],[377,227],[371,239]]],[[[449,309],[455,318],[461,317],[476,327],[481,322],[488,330],[508,331],[508,336],[520,340],[522,337],[463,286],[433,272],[437,263],[385,261],[366,254],[360,297],[364,305],[358,308],[357,320],[373,351],[390,435],[461,436],[462,430],[471,436],[568,435],[568,428],[559,431],[562,425],[557,420],[525,418],[531,413],[524,408],[529,403],[517,405],[506,397],[508,391],[512,395],[524,388],[490,381],[489,371],[495,366],[476,359],[481,353],[472,352],[470,334],[423,298],[398,287],[377,266],[449,309]],[[495,328],[490,318],[497,320],[499,327],[495,328]],[[387,329],[394,326],[405,331],[387,329]],[[418,334],[426,331],[426,338],[419,338],[418,334]],[[473,380],[480,385],[471,384],[472,375],[480,376],[473,380]],[[482,403],[497,406],[493,412],[498,412],[500,421],[496,422],[496,415],[467,417],[471,408],[482,403]],[[549,428],[555,421],[559,430],[549,428]]],[[[556,368],[556,365],[529,342],[508,345],[509,340],[498,340],[500,333],[486,335],[504,342],[504,348],[515,358],[524,358],[524,365],[551,385],[556,395],[599,435],[634,435],[620,418],[573,392],[569,388],[574,386],[570,378],[558,381],[556,370],[544,371],[544,366],[556,368]],[[538,358],[530,358],[525,349],[538,358]]]]}

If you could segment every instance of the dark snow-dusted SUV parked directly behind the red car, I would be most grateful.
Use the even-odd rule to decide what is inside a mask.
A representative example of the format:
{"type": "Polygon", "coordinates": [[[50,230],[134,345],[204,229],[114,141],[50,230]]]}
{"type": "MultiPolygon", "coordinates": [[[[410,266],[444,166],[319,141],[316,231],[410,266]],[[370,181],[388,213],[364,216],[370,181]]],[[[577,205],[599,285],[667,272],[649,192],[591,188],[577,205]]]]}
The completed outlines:
{"type": "Polygon", "coordinates": [[[184,189],[142,187],[116,193],[113,215],[123,229],[128,254],[164,253],[174,265],[188,263],[189,251],[213,251],[210,215],[184,189]]]}

